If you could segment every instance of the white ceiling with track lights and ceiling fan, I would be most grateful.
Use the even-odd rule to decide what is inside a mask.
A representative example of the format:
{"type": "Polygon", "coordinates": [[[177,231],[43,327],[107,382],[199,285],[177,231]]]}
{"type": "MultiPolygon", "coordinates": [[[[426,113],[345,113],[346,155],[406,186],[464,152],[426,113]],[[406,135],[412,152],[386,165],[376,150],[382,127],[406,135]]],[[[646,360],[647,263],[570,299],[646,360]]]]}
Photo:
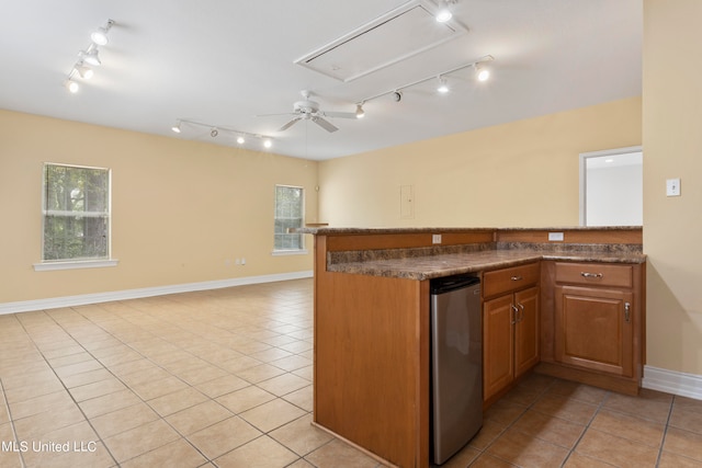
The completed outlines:
{"type": "MultiPolygon", "coordinates": [[[[414,0],[415,2],[419,0],[414,0]]],[[[422,0],[431,8],[431,1],[422,0]]],[[[0,109],[171,138],[238,146],[235,135],[273,138],[265,151],[325,160],[490,125],[641,95],[642,0],[460,0],[455,24],[468,32],[393,65],[342,81],[295,60],[406,5],[405,0],[22,0],[0,16],[0,109]],[[115,24],[102,66],[71,94],[64,87],[90,33],[115,24]],[[490,55],[491,78],[471,67],[490,55]],[[403,90],[395,89],[431,78],[403,90]],[[332,118],[278,129],[309,90],[332,118]]],[[[415,32],[405,32],[412,37],[415,32]]],[[[401,39],[405,41],[405,39],[401,39]]],[[[382,41],[373,50],[394,50],[382,41]]],[[[248,138],[247,148],[260,150],[248,138]]]]}

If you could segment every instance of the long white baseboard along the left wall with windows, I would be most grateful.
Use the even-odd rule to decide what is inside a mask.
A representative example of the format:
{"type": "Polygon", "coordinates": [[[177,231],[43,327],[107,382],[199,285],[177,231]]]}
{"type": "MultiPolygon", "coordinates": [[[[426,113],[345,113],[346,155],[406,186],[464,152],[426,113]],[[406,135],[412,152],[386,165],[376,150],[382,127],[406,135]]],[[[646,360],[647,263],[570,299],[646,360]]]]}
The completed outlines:
{"type": "Polygon", "coordinates": [[[163,296],[166,294],[190,293],[193,290],[219,289],[223,287],[249,284],[273,283],[279,281],[309,278],[312,271],[278,273],[262,276],[218,279],[202,283],[177,284],[170,286],[145,287],[140,289],[115,290],[110,293],[83,294],[80,296],[52,297],[48,299],[0,303],[0,315],[29,312],[32,310],[56,309],[59,307],[84,306],[86,304],[109,303],[112,300],[138,299],[141,297],[163,296]]]}

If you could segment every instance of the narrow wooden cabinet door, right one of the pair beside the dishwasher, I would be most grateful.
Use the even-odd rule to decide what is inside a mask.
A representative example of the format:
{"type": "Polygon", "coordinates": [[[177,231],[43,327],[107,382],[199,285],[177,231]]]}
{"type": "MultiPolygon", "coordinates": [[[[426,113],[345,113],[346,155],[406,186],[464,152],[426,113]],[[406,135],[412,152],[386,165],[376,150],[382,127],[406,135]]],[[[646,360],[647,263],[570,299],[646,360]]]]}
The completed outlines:
{"type": "Polygon", "coordinates": [[[539,288],[514,293],[514,377],[539,363],[539,288]]]}

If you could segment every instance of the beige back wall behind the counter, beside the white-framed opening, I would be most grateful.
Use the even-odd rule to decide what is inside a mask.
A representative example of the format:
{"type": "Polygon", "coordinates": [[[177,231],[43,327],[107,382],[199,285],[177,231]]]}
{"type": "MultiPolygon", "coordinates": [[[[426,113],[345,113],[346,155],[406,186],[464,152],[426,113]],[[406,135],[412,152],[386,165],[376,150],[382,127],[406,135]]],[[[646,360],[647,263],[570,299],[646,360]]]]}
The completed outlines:
{"type": "Polygon", "coordinates": [[[324,161],[331,226],[577,226],[579,153],[642,142],[641,98],[324,161]],[[400,186],[414,217],[400,216],[400,186]]]}

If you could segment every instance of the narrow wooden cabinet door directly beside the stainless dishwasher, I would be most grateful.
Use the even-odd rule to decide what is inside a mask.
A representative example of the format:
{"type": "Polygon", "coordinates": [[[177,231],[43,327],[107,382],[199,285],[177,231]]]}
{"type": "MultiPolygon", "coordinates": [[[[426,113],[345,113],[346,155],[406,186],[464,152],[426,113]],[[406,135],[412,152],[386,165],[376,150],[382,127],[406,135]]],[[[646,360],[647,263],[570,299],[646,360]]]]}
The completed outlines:
{"type": "Polygon", "coordinates": [[[509,385],[514,378],[512,295],[483,305],[483,398],[509,385]]]}

